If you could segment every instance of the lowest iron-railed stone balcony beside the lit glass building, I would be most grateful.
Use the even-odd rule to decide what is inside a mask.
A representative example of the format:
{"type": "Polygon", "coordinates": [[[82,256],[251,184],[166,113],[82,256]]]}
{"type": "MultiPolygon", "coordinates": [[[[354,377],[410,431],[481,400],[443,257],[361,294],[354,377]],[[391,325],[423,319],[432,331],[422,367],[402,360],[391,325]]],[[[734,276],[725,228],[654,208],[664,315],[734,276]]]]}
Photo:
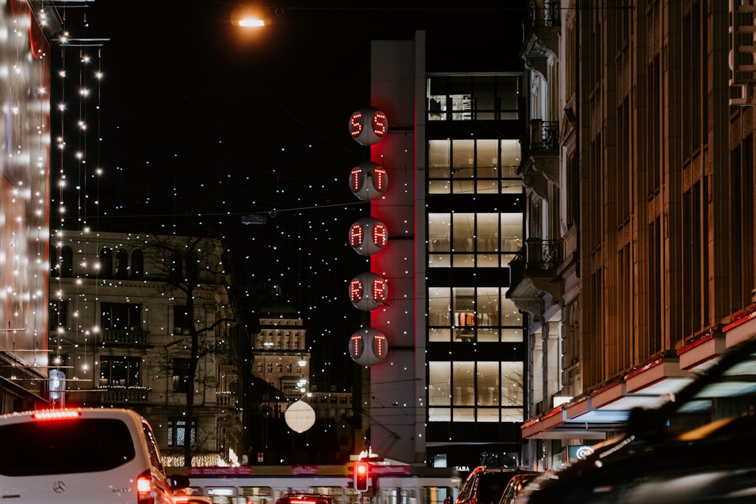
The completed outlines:
{"type": "Polygon", "coordinates": [[[564,280],[559,275],[561,252],[560,240],[531,238],[525,240],[525,246],[510,261],[507,298],[536,320],[540,320],[552,303],[563,304],[564,280]]]}

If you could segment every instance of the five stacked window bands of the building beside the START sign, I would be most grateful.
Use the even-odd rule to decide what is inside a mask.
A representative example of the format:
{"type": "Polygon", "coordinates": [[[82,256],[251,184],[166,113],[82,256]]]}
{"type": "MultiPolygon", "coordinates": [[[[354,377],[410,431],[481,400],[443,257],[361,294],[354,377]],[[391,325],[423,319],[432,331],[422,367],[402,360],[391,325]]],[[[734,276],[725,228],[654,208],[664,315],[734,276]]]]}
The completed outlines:
{"type": "MultiPolygon", "coordinates": [[[[518,82],[493,76],[430,78],[429,124],[517,119],[518,82]]],[[[438,352],[428,363],[429,422],[523,421],[523,361],[490,360],[500,354],[499,345],[519,348],[524,342],[525,321],[507,299],[508,281],[494,280],[502,278],[500,272],[524,243],[522,211],[510,203],[523,193],[520,156],[515,139],[428,141],[427,264],[431,278],[451,279],[428,283],[428,345],[449,348],[447,360],[438,360],[444,353],[438,352]],[[433,196],[446,199],[437,204],[433,196]],[[466,211],[472,199],[475,208],[486,211],[466,211]],[[461,274],[453,274],[453,268],[461,274]],[[476,268],[485,269],[476,273],[476,268]],[[478,280],[462,280],[469,278],[478,280]],[[465,345],[477,345],[478,351],[464,351],[475,348],[465,345]],[[485,345],[499,350],[481,351],[485,345]]]]}

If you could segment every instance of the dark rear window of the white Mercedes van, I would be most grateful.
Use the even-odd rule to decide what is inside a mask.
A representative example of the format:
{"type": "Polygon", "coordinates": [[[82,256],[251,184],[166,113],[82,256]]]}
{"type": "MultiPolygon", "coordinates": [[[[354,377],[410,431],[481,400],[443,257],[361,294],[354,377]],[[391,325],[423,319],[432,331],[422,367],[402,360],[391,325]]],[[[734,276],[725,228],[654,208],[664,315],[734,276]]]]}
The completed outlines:
{"type": "Polygon", "coordinates": [[[0,425],[0,475],[107,471],[135,458],[129,428],[117,419],[65,419],[0,425]]]}

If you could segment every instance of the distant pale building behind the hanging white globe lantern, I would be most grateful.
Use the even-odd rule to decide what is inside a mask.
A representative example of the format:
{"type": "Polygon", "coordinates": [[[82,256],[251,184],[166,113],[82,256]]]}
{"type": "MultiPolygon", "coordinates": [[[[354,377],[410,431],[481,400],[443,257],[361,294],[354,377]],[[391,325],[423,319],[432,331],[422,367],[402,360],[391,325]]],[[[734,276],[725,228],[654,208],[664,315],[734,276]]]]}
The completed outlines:
{"type": "Polygon", "coordinates": [[[253,452],[266,464],[348,461],[359,436],[352,425],[352,387],[314,381],[320,373],[311,370],[307,329],[292,305],[277,302],[259,313],[249,401],[253,452]],[[302,432],[295,431],[296,417],[287,418],[288,408],[299,400],[314,413],[312,426],[302,432]]]}

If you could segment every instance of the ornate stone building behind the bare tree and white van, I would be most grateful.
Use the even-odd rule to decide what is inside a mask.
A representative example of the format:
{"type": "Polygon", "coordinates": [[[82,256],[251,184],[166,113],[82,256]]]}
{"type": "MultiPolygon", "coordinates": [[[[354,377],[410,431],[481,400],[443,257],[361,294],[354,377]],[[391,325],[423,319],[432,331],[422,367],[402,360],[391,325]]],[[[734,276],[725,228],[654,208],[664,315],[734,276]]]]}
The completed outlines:
{"type": "Polygon", "coordinates": [[[59,230],[50,253],[51,405],[136,410],[166,465],[191,417],[194,465],[242,462],[246,336],[219,240],[59,230]]]}

